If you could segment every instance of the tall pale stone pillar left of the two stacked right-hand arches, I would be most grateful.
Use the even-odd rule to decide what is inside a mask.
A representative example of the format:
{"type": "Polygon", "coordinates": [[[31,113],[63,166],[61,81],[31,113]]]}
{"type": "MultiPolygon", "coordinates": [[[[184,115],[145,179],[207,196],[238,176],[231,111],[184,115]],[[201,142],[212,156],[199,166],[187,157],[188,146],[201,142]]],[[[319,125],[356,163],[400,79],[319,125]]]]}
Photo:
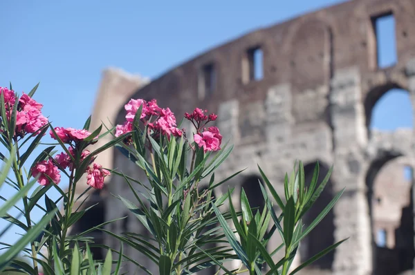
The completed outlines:
{"type": "Polygon", "coordinates": [[[372,268],[371,225],[362,171],[362,148],[367,143],[367,132],[358,69],[335,72],[331,89],[334,192],[346,187],[333,209],[335,242],[349,238],[336,249],[333,274],[367,275],[372,268]]]}

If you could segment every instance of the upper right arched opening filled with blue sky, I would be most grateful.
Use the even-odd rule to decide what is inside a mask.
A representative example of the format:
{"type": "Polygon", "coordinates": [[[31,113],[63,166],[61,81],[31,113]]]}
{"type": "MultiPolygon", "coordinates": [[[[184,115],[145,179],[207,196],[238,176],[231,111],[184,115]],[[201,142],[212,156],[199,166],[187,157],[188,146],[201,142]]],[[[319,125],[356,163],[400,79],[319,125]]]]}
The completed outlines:
{"type": "Polygon", "coordinates": [[[365,99],[365,112],[369,134],[373,130],[412,129],[414,125],[409,93],[393,83],[370,91],[365,99]]]}

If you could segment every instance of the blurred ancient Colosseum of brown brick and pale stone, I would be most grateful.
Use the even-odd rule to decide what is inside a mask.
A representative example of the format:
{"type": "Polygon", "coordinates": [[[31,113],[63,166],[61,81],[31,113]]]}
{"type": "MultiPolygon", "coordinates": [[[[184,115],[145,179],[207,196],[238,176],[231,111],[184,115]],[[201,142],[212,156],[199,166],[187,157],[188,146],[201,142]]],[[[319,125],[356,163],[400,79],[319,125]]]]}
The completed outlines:
{"type": "MultiPolygon", "coordinates": [[[[130,98],[155,98],[177,116],[195,106],[217,113],[216,125],[235,148],[215,178],[246,168],[229,185],[236,187],[234,200],[242,187],[253,194],[249,200],[254,206],[264,203],[257,196],[257,164],[279,191],[295,160],[306,164],[308,178],[315,162],[322,174],[333,164],[331,181],[304,222],[313,220],[335,193],[346,190],[300,245],[295,265],[349,237],[302,274],[409,274],[414,269],[413,176],[404,177],[403,171],[415,164],[412,129],[371,131],[369,124],[374,105],[393,88],[407,91],[415,104],[414,26],[415,0],[354,0],[255,30],[156,79],[109,68],[102,76],[92,127],[101,121],[122,123],[123,106],[130,98]],[[397,57],[388,66],[378,61],[376,22],[383,17],[396,22],[397,57]]],[[[105,167],[142,178],[118,151],[99,158],[105,167]]],[[[121,178],[109,178],[105,191],[91,196],[91,203],[102,202],[100,207],[77,227],[128,215],[109,229],[147,234],[111,193],[131,198],[121,178]]],[[[110,247],[120,245],[100,232],[94,234],[110,247]]],[[[269,247],[280,241],[275,236],[269,247]]],[[[129,247],[125,252],[154,269],[129,247]]],[[[134,265],[123,271],[140,274],[134,273],[134,265]]],[[[203,274],[215,272],[207,269],[203,274]]]]}

